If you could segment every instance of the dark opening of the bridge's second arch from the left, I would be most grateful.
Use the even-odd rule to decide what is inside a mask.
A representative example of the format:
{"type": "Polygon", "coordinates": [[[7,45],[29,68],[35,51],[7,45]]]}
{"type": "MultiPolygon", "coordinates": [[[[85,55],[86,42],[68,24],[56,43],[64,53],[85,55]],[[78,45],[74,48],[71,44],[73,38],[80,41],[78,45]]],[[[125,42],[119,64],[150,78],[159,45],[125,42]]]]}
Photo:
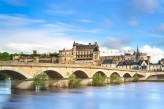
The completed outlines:
{"type": "Polygon", "coordinates": [[[53,79],[64,78],[59,72],[54,71],[54,70],[46,70],[46,71],[44,71],[44,73],[46,73],[50,78],[53,78],[53,79]]]}

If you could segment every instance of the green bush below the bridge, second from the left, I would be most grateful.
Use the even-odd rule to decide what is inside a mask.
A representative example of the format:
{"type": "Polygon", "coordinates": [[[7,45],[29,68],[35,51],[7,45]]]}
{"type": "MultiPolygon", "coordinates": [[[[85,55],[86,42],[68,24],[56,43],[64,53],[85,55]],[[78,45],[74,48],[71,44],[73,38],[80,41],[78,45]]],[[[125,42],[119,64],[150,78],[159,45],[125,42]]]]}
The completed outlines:
{"type": "Polygon", "coordinates": [[[80,87],[80,80],[76,78],[76,76],[74,74],[72,74],[69,77],[69,82],[68,82],[68,86],[70,88],[78,88],[80,87]]]}

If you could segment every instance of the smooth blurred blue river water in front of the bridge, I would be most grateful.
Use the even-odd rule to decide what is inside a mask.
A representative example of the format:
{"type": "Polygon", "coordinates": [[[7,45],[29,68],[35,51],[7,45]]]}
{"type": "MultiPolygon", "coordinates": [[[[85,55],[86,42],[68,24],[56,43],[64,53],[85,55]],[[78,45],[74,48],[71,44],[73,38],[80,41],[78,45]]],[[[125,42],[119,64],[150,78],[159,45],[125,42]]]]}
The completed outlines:
{"type": "Polygon", "coordinates": [[[38,92],[10,90],[1,83],[0,109],[164,109],[164,83],[38,92]]]}

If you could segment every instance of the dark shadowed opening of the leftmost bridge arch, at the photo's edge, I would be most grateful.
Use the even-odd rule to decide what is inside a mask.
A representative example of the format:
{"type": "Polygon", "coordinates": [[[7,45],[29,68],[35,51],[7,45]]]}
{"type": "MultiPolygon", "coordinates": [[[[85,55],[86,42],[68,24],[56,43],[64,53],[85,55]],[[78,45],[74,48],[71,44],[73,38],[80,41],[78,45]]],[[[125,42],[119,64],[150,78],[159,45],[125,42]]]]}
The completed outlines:
{"type": "Polygon", "coordinates": [[[12,80],[14,80],[14,79],[17,79],[17,80],[27,79],[27,77],[25,75],[21,74],[18,71],[14,71],[14,70],[0,70],[0,73],[7,74],[12,80]]]}

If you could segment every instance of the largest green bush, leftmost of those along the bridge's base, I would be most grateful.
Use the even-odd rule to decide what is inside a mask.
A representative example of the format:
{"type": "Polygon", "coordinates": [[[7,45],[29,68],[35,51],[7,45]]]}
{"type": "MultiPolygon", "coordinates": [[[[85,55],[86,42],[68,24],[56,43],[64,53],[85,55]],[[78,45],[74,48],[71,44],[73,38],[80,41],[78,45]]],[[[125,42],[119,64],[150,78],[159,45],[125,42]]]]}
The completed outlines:
{"type": "Polygon", "coordinates": [[[32,85],[34,88],[39,87],[39,89],[48,89],[49,88],[48,75],[45,73],[34,75],[32,85]]]}

